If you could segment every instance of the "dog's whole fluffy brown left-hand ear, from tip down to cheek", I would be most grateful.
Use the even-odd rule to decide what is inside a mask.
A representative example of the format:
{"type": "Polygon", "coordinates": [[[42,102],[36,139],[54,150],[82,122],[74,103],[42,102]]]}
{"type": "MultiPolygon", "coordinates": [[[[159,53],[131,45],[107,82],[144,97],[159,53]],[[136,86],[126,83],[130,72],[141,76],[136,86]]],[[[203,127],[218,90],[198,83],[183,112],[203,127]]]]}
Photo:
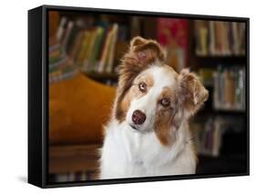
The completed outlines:
{"type": "Polygon", "coordinates": [[[119,103],[138,73],[145,70],[150,63],[164,62],[165,57],[164,50],[156,41],[146,40],[139,36],[131,40],[128,53],[124,55],[119,66],[118,92],[115,102],[115,117],[118,121],[122,121],[125,115],[125,112],[120,109],[119,103]]]}

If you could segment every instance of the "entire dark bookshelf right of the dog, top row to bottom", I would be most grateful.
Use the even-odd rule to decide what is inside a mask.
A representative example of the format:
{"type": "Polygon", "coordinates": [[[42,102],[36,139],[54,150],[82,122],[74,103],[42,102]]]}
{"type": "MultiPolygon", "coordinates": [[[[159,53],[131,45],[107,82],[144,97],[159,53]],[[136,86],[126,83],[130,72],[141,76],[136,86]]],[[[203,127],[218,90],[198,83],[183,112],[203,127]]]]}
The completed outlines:
{"type": "MultiPolygon", "coordinates": [[[[244,24],[207,21],[189,23],[191,41],[188,48],[188,67],[200,75],[210,92],[209,100],[190,124],[195,130],[193,134],[198,143],[197,173],[199,174],[206,171],[209,173],[241,172],[246,167],[245,68],[247,61],[244,36],[244,24]],[[232,25],[234,25],[233,28],[232,25]],[[241,29],[238,29],[238,25],[241,29]],[[238,34],[236,38],[232,36],[231,31],[234,29],[240,31],[241,37],[238,37],[238,34]],[[219,37],[212,37],[214,34],[219,37]],[[229,42],[220,45],[221,38],[228,39],[229,42]],[[213,45],[214,40],[218,42],[216,39],[219,39],[219,44],[214,45],[219,46],[219,49],[222,48],[222,53],[219,51],[212,54],[210,46],[213,45]],[[240,44],[235,43],[236,41],[240,44]],[[227,50],[229,52],[225,53],[227,50]],[[241,88],[239,85],[242,85],[241,88]],[[217,100],[222,103],[219,102],[218,105],[217,100]],[[226,103],[229,103],[229,106],[225,106],[226,103]],[[240,106],[235,106],[236,104],[240,106]]],[[[225,41],[222,40],[222,42],[225,41]]]]}

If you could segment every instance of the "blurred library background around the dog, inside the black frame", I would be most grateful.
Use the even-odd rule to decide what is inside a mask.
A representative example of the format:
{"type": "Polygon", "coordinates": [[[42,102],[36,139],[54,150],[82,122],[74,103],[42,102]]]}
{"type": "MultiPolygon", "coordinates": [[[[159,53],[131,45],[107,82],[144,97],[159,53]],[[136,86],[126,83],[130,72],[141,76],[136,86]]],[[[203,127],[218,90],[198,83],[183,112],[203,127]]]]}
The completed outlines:
{"type": "Polygon", "coordinates": [[[210,92],[190,121],[197,174],[247,169],[244,23],[83,12],[48,12],[50,182],[97,179],[98,148],[132,37],[155,39],[177,72],[188,67],[210,92]]]}

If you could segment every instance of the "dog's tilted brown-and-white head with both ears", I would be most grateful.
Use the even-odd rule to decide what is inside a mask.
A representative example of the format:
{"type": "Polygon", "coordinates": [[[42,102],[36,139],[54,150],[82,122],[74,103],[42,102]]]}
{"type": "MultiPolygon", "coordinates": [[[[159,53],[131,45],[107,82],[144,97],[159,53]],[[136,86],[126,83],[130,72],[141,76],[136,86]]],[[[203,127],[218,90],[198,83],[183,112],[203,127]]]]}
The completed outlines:
{"type": "Polygon", "coordinates": [[[197,112],[208,91],[189,70],[176,73],[153,40],[135,37],[119,71],[114,116],[130,130],[155,132],[163,145],[173,140],[182,121],[197,112]]]}

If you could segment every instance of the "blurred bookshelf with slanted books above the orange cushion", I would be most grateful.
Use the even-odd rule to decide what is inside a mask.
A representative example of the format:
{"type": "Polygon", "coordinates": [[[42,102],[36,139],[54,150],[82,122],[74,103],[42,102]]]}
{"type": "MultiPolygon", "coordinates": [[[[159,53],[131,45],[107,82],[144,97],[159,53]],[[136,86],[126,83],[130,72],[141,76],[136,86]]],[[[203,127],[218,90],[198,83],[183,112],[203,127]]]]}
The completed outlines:
{"type": "Polygon", "coordinates": [[[154,18],[148,20],[142,16],[59,13],[57,40],[51,41],[49,49],[50,66],[56,67],[50,73],[51,80],[61,80],[61,74],[67,74],[68,64],[59,64],[59,61],[68,57],[79,72],[97,82],[115,85],[117,67],[128,50],[131,37],[139,34],[155,37],[150,30],[154,21],[154,18]]]}

